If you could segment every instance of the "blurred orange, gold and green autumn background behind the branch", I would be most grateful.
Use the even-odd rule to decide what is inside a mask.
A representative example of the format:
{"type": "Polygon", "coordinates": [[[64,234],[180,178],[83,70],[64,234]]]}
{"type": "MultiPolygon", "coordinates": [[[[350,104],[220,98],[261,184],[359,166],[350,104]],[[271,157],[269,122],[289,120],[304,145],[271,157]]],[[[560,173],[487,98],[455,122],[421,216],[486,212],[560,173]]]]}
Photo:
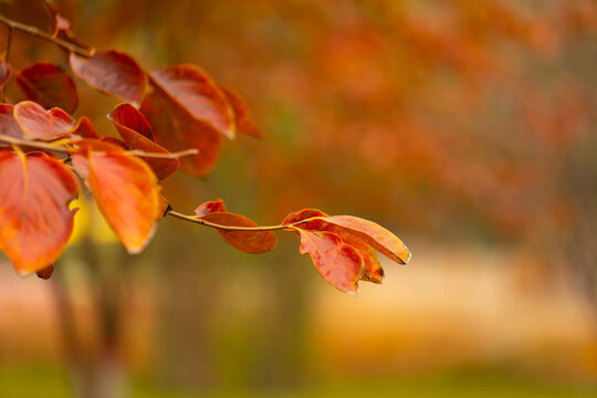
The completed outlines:
{"type": "MultiPolygon", "coordinates": [[[[147,70],[200,65],[266,133],[168,179],[178,210],[321,208],[413,256],[352,296],[290,234],[255,256],[166,219],[129,256],[82,202],[52,280],[0,260],[1,397],[597,396],[595,1],[55,2],[147,70]]],[[[51,23],[36,0],[0,11],[51,23]]],[[[15,33],[13,65],[38,60],[66,65],[15,33]]],[[[116,102],[77,87],[114,135],[116,102]]]]}

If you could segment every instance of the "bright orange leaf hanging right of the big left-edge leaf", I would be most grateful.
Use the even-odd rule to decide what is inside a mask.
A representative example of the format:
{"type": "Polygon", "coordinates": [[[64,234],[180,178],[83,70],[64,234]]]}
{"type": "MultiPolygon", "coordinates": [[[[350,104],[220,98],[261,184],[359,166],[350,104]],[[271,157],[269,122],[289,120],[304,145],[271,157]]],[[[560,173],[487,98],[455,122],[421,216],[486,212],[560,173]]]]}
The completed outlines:
{"type": "Polygon", "coordinates": [[[97,207],[130,253],[140,252],[161,218],[159,186],[142,159],[98,140],[77,143],[73,165],[85,177],[97,207]]]}

